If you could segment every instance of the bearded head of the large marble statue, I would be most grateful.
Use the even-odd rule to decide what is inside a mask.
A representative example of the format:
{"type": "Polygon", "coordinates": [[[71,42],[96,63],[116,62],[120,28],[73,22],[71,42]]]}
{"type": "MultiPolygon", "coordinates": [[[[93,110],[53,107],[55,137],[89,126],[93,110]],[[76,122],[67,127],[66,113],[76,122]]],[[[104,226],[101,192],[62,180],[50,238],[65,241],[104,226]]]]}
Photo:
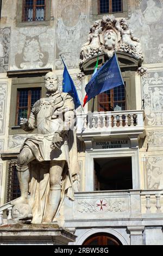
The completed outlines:
{"type": "Polygon", "coordinates": [[[55,93],[58,90],[58,76],[55,72],[48,72],[45,75],[45,88],[48,93],[55,93]]]}

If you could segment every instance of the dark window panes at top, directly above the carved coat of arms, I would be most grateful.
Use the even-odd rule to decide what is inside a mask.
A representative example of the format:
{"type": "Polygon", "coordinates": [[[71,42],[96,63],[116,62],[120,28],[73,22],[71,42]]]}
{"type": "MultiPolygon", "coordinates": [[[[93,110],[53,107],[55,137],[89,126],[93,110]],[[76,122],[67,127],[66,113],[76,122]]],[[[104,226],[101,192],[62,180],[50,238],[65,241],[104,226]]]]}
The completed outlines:
{"type": "Polygon", "coordinates": [[[122,0],[98,0],[98,13],[121,13],[122,0]]]}

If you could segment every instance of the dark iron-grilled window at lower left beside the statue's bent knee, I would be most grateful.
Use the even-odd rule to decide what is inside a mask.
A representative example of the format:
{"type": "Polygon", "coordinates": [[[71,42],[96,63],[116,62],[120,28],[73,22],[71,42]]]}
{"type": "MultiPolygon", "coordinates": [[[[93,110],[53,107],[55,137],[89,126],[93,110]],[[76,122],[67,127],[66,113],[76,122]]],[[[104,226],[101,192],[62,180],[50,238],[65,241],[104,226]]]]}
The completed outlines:
{"type": "Polygon", "coordinates": [[[8,191],[7,202],[10,202],[21,196],[20,186],[18,184],[16,162],[9,163],[8,169],[8,191]]]}

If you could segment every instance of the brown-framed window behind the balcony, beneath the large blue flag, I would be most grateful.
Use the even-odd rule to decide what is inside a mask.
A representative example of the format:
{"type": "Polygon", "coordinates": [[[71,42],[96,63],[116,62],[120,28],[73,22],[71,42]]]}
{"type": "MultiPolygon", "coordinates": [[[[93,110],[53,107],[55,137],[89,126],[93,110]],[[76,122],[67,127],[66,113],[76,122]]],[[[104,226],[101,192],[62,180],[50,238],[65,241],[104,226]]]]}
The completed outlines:
{"type": "Polygon", "coordinates": [[[98,95],[98,111],[126,110],[126,92],[124,86],[118,86],[98,95]]]}

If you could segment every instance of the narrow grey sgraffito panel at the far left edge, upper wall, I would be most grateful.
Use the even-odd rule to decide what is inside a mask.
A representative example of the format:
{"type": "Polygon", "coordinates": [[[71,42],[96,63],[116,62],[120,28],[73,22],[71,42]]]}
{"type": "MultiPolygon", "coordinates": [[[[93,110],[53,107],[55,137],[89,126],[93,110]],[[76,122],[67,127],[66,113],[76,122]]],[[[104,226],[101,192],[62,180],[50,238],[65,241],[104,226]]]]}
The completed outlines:
{"type": "Polygon", "coordinates": [[[10,28],[0,28],[0,72],[9,69],[10,28]]]}

